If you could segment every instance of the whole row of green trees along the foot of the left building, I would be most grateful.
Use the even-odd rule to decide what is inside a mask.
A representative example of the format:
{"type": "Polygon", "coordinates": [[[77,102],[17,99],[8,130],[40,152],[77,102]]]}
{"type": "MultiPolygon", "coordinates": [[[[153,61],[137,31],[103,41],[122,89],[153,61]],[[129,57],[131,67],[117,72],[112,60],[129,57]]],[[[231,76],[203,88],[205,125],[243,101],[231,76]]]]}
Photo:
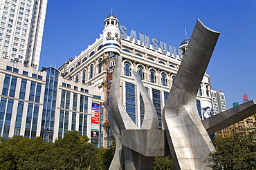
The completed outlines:
{"type": "Polygon", "coordinates": [[[68,131],[64,138],[0,138],[0,169],[109,169],[113,149],[94,147],[89,138],[68,131]]]}

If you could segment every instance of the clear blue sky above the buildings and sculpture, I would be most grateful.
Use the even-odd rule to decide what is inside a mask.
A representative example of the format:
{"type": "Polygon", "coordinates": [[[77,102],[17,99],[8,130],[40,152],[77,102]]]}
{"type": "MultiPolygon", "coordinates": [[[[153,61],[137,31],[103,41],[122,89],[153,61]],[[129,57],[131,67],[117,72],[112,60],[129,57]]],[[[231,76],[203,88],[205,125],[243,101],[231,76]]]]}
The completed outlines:
{"type": "Polygon", "coordinates": [[[93,43],[110,14],[121,25],[179,47],[192,34],[196,19],[221,32],[207,73],[226,105],[256,99],[256,1],[86,1],[49,0],[40,67],[59,68],[93,43]]]}

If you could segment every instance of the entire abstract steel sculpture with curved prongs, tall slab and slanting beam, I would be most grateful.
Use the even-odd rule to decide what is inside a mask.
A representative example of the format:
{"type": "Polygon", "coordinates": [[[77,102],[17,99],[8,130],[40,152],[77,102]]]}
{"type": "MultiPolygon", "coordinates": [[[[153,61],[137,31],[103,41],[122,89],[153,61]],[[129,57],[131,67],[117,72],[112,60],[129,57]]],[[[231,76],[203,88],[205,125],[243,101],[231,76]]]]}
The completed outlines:
{"type": "MultiPolygon", "coordinates": [[[[224,120],[219,118],[214,120],[214,116],[205,120],[199,117],[196,94],[218,37],[219,32],[206,28],[199,19],[196,21],[190,43],[163,109],[165,130],[158,130],[156,110],[136,72],[132,74],[145,105],[145,116],[141,128],[139,129],[129,118],[120,100],[122,59],[116,56],[108,114],[109,124],[116,140],[116,152],[109,169],[153,169],[154,157],[163,157],[168,154],[172,155],[175,169],[209,169],[206,167],[207,164],[203,163],[203,160],[208,158],[208,154],[214,151],[208,129],[212,134],[214,130],[219,130],[216,128],[217,125],[221,125],[221,128],[228,127],[234,123],[233,120],[225,120],[229,118],[228,115],[234,116],[237,113],[241,115],[247,107],[250,107],[250,111],[256,108],[253,101],[254,103],[246,107],[229,112],[224,116],[224,120]],[[223,121],[226,121],[226,124],[223,121]]],[[[235,119],[238,122],[242,117],[237,116],[235,119]]]]}

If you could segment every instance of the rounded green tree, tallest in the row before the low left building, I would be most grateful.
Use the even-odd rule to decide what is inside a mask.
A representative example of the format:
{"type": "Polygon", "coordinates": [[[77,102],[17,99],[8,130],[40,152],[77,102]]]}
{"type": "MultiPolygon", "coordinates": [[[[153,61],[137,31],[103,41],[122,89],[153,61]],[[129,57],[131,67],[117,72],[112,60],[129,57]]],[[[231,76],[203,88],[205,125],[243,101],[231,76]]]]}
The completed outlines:
{"type": "Polygon", "coordinates": [[[94,169],[97,151],[86,135],[78,136],[77,131],[68,131],[64,138],[55,141],[53,155],[56,169],[94,169]]]}

